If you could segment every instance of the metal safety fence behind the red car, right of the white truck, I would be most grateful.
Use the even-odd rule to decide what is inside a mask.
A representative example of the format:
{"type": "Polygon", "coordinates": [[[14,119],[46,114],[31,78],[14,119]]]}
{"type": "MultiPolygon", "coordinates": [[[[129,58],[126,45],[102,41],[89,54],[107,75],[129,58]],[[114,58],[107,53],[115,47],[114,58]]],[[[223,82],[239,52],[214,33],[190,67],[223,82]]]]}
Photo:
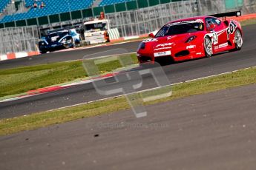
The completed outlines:
{"type": "Polygon", "coordinates": [[[256,12],[255,0],[189,0],[159,4],[140,10],[108,13],[106,18],[111,27],[117,27],[121,37],[142,35],[160,29],[163,24],[179,18],[203,16],[243,10],[243,13],[256,12]]]}

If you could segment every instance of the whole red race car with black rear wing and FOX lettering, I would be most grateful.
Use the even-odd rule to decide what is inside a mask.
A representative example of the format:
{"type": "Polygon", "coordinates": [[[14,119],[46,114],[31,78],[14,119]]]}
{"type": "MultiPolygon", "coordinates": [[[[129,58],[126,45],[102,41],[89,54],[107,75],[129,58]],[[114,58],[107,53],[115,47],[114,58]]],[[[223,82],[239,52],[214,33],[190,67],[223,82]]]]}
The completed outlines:
{"type": "Polygon", "coordinates": [[[151,33],[150,39],[142,41],[137,58],[140,64],[170,58],[184,61],[240,50],[243,46],[242,28],[238,21],[226,20],[226,16],[240,15],[237,11],[171,21],[156,35],[151,33]]]}

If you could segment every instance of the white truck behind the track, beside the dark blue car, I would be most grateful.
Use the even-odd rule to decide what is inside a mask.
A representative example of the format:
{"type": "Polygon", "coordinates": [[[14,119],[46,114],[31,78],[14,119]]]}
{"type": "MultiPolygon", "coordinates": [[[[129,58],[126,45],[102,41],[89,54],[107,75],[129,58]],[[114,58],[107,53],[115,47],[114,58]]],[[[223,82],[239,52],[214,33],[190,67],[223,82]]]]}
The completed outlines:
{"type": "Polygon", "coordinates": [[[94,19],[93,21],[86,21],[85,28],[85,42],[86,44],[99,44],[109,42],[108,35],[109,21],[108,19],[94,19]]]}

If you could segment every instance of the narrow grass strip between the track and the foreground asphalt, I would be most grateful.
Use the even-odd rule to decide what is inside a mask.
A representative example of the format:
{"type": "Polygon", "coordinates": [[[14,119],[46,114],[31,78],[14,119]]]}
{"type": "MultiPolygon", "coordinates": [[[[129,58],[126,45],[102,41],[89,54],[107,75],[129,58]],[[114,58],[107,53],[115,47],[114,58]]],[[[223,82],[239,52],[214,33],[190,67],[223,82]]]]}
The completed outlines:
{"type": "MultiPolygon", "coordinates": [[[[145,105],[171,101],[190,95],[198,95],[206,92],[214,92],[220,89],[227,89],[236,86],[243,86],[256,83],[256,68],[242,69],[226,75],[218,75],[212,78],[205,78],[172,87],[172,95],[156,101],[145,102],[145,105]]],[[[129,109],[124,97],[112,98],[105,101],[82,104],[65,109],[56,109],[49,112],[39,112],[32,115],[18,118],[0,120],[0,135],[10,135],[16,132],[38,129],[56,123],[65,123],[70,120],[88,118],[95,115],[102,115],[129,109]]]]}

